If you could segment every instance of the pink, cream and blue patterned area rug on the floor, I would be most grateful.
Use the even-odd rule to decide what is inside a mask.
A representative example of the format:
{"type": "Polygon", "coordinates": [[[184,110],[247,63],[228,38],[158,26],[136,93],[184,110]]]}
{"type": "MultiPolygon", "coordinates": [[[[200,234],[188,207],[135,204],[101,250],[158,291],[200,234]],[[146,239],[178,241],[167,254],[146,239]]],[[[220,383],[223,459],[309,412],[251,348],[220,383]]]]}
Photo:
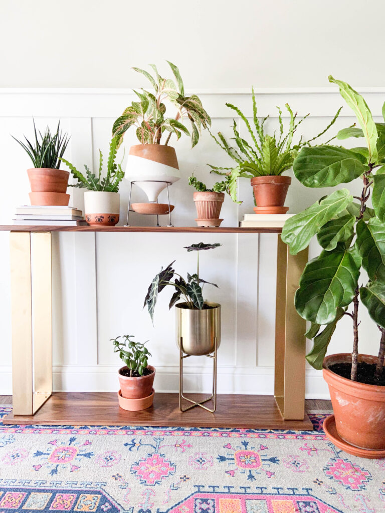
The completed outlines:
{"type": "Polygon", "coordinates": [[[385,460],[310,417],[315,431],[0,423],[0,513],[384,512],[385,460]]]}

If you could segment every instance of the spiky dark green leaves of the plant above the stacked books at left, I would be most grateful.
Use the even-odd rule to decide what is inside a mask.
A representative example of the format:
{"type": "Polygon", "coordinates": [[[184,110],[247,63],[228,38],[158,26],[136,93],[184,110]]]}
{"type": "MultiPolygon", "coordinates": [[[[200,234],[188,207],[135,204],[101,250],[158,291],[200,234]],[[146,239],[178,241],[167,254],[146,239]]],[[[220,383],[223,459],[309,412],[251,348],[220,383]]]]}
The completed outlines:
{"type": "Polygon", "coordinates": [[[66,151],[69,137],[67,133],[62,134],[60,130],[60,121],[54,133],[51,133],[49,127],[45,132],[36,130],[35,120],[33,120],[33,129],[35,140],[31,143],[26,136],[24,139],[27,143],[19,141],[16,137],[11,137],[22,146],[28,153],[34,168],[59,169],[61,157],[66,151]]]}

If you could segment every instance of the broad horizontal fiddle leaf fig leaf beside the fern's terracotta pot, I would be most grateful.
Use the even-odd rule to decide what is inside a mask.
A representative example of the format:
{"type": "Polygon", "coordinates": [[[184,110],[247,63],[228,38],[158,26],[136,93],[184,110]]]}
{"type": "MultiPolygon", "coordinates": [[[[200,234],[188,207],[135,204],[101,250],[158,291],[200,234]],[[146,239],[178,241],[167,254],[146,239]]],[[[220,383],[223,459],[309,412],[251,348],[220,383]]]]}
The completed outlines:
{"type": "Polygon", "coordinates": [[[366,159],[337,146],[304,146],[294,161],[296,178],[306,187],[334,187],[358,178],[366,159]]]}

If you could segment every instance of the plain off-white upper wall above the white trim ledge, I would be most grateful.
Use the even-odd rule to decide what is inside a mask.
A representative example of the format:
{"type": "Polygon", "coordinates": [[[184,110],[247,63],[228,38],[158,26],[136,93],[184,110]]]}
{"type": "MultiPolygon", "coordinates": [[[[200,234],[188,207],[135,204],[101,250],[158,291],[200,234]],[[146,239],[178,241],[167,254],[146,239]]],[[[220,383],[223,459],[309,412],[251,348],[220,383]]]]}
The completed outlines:
{"type": "Polygon", "coordinates": [[[0,87],[142,87],[175,62],[188,87],[383,86],[382,0],[2,0],[0,87]]]}

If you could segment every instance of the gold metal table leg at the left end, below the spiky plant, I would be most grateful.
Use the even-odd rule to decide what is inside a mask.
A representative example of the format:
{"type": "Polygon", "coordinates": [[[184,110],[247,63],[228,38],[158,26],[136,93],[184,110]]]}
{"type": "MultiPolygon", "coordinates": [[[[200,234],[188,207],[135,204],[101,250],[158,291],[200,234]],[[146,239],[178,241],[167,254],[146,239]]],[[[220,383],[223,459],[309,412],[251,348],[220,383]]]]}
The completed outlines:
{"type": "Polygon", "coordinates": [[[14,415],[33,415],[52,393],[50,232],[10,233],[14,415]]]}

